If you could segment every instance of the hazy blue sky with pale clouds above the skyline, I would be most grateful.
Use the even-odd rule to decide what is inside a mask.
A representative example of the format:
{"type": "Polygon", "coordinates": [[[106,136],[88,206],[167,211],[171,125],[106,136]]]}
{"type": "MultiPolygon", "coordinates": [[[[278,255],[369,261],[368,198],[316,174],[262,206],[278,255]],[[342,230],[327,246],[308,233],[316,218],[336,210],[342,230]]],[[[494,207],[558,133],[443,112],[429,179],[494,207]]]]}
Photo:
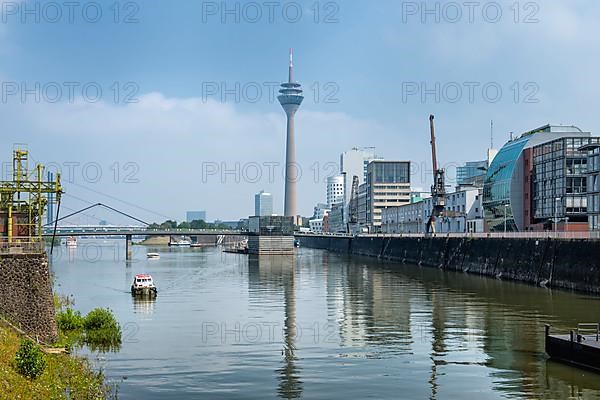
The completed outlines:
{"type": "MultiPolygon", "coordinates": [[[[484,159],[547,123],[596,133],[600,3],[0,1],[0,160],[15,143],[60,170],[64,212],[106,203],[145,221],[283,211],[289,48],[299,214],[339,155],[373,146],[430,185],[438,157],[484,159]]],[[[82,223],[114,215],[90,212],[82,223]]]]}

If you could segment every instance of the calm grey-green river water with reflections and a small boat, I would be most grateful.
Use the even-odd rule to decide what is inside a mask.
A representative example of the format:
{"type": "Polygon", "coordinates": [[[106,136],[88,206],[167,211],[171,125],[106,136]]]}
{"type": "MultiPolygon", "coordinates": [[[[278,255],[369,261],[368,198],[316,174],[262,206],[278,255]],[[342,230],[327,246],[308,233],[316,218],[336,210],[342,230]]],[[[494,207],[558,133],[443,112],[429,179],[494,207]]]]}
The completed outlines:
{"type": "Polygon", "coordinates": [[[600,298],[306,248],[135,247],[125,263],[121,245],[52,260],[56,292],[123,328],[119,351],[82,351],[120,399],[600,399],[600,375],[543,351],[544,324],[600,321],[600,298]],[[155,301],[131,297],[136,273],[155,301]]]}

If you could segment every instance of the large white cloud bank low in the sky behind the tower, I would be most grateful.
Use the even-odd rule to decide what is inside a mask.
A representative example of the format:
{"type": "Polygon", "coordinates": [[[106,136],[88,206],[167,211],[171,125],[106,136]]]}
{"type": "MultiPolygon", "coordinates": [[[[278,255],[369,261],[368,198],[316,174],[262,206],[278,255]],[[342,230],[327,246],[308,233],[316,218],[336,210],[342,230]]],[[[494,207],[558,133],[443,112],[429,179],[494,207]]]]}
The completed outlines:
{"type": "MultiPolygon", "coordinates": [[[[19,133],[10,140],[29,142],[39,159],[78,161],[82,165],[93,161],[105,169],[114,162],[137,163],[140,184],[105,182],[92,187],[149,209],[168,215],[207,209],[211,218],[242,217],[252,212],[252,195],[264,188],[274,193],[279,205],[276,210],[281,211],[282,167],[276,168],[271,181],[269,167],[264,165],[284,163],[285,117],[278,104],[273,104],[272,113],[258,113],[241,112],[234,104],[168,98],[160,93],[139,100],[138,104],[128,105],[82,100],[72,104],[12,102],[1,109],[0,118],[7,121],[8,131],[19,133]],[[203,163],[216,163],[220,170],[237,168],[239,181],[235,174],[219,173],[202,182],[203,163]],[[250,165],[261,167],[263,176],[258,182],[244,182],[245,166],[246,175],[253,180],[255,169],[250,165]]],[[[385,129],[344,113],[301,109],[296,131],[302,168],[299,211],[309,214],[314,203],[324,200],[322,181],[333,172],[326,163],[338,162],[339,152],[368,144],[374,136],[382,136],[385,129]]],[[[77,182],[85,184],[81,179],[77,182]]],[[[93,194],[67,184],[69,190],[99,201],[92,199],[93,194]]]]}

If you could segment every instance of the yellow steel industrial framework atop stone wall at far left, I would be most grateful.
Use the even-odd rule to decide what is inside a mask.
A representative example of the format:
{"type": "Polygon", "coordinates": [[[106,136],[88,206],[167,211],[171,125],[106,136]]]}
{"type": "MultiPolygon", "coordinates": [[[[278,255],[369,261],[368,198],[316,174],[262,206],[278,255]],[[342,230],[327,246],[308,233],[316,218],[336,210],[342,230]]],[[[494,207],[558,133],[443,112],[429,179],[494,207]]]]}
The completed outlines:
{"type": "Polygon", "coordinates": [[[13,150],[12,180],[0,181],[0,241],[9,245],[25,238],[41,238],[42,217],[48,202],[60,203],[60,174],[44,178],[45,168],[29,170],[29,152],[13,150]]]}

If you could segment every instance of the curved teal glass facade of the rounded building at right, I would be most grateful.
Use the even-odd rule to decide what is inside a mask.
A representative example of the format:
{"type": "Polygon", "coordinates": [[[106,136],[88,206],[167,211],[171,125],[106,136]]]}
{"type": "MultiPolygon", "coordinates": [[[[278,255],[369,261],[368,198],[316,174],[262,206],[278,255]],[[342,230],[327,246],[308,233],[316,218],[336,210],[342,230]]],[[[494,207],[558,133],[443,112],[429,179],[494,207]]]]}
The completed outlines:
{"type": "Polygon", "coordinates": [[[511,182],[517,161],[530,136],[507,143],[488,168],[483,185],[483,208],[488,232],[516,231],[511,182]]]}

